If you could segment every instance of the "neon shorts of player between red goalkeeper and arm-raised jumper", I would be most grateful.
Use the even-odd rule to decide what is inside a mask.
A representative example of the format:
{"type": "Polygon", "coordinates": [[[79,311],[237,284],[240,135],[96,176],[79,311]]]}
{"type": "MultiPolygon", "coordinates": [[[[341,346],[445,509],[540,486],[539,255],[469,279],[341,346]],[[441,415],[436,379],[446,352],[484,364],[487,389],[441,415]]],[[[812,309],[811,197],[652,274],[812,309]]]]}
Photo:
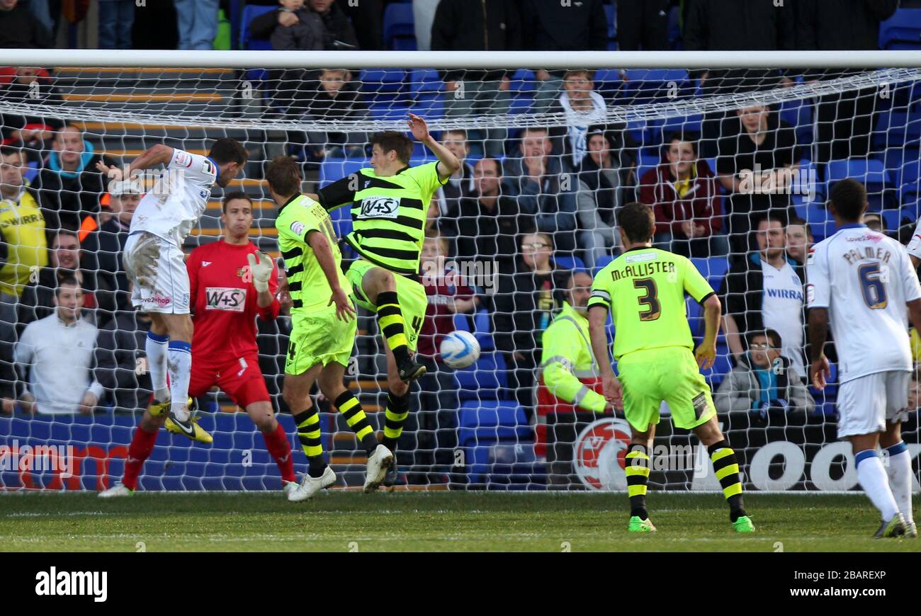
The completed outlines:
{"type": "Polygon", "coordinates": [[[285,373],[304,374],[317,364],[326,366],[330,362],[348,366],[357,329],[356,319],[336,319],[334,304],[311,309],[309,313],[298,308],[291,310],[285,373]]]}

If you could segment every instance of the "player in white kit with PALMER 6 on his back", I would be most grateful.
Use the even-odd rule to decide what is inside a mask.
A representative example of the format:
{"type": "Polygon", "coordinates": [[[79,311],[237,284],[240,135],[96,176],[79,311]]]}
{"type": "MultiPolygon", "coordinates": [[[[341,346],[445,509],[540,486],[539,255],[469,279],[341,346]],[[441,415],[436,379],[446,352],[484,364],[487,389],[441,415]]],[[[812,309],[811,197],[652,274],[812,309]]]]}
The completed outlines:
{"type": "Polygon", "coordinates": [[[838,436],[850,440],[857,479],[880,510],[876,536],[917,537],[912,464],[901,424],[913,369],[908,318],[921,325],[921,285],[902,244],[861,222],[867,206],[863,184],[837,182],[829,209],[838,231],[809,252],[810,378],[824,389],[830,372],[822,350],[831,323],[840,358],[838,436]],[[888,464],[880,459],[880,446],[888,464]]]}

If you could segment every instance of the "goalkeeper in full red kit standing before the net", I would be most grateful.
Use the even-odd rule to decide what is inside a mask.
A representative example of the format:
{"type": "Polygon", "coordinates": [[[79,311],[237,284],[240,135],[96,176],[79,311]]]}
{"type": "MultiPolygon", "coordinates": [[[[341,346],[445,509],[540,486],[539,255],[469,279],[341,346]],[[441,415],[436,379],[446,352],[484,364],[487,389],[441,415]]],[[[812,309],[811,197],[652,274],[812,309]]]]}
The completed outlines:
{"type": "MultiPolygon", "coordinates": [[[[226,236],[192,250],[186,261],[194,311],[189,395],[197,398],[217,386],[244,408],[262,432],[287,493],[297,488],[291,445],[275,419],[256,345],[256,316],[262,320],[278,316],[278,270],[250,241],[252,203],[245,193],[231,192],[224,197],[221,221],[226,236]]],[[[162,424],[162,418],[145,412],[128,448],[122,482],[99,496],[134,493],[162,424]]],[[[182,434],[172,426],[169,430],[182,434]]],[[[210,435],[204,436],[198,440],[211,442],[210,435]]]]}

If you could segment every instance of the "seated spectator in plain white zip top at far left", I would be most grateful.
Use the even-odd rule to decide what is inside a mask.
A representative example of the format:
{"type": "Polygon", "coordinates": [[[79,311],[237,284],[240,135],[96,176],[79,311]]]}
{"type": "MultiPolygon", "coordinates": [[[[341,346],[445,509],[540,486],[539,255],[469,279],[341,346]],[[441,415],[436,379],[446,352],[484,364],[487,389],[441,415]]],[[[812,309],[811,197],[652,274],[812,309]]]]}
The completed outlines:
{"type": "Polygon", "coordinates": [[[82,318],[83,290],[74,276],[58,283],[54,306],[52,315],[29,323],[17,343],[26,384],[19,403],[26,413],[92,413],[103,393],[93,378],[97,329],[82,318]]]}

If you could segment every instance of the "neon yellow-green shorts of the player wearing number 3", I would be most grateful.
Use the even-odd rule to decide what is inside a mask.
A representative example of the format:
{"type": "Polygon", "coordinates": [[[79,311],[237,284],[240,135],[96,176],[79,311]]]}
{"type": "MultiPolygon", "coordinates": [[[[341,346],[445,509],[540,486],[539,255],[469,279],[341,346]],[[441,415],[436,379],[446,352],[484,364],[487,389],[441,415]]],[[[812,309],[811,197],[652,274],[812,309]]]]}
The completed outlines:
{"type": "Polygon", "coordinates": [[[639,432],[659,424],[659,407],[669,403],[671,422],[690,430],[717,413],[694,354],[683,346],[625,354],[617,362],[624,386],[624,415],[639,432]]]}

